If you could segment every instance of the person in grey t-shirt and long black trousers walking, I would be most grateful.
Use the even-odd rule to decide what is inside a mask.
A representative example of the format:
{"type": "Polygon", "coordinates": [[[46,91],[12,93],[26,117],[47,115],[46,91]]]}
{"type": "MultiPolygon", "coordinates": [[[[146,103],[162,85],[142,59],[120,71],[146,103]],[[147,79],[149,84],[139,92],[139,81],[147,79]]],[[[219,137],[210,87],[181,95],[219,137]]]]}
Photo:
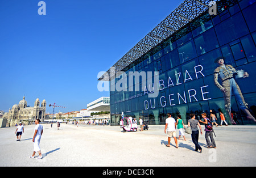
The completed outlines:
{"type": "Polygon", "coordinates": [[[199,121],[195,119],[196,116],[194,114],[190,114],[189,116],[190,116],[191,119],[188,120],[188,126],[190,126],[191,130],[192,130],[191,138],[192,138],[193,143],[196,146],[195,151],[199,150],[200,153],[201,153],[202,152],[202,148],[201,148],[201,146],[198,143],[199,130],[197,128],[197,126],[199,126],[200,132],[201,132],[201,134],[203,134],[202,129],[201,129],[201,125],[199,124],[199,121]]]}

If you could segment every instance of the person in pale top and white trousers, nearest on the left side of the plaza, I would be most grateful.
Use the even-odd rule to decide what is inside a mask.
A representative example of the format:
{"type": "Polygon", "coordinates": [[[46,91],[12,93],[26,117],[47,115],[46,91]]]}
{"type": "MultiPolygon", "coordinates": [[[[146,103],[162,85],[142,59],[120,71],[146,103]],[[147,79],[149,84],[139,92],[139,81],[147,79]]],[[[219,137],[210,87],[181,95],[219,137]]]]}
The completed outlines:
{"type": "Polygon", "coordinates": [[[35,129],[34,129],[34,136],[33,136],[33,139],[32,141],[34,142],[34,152],[32,154],[32,156],[30,156],[30,158],[35,158],[35,153],[36,151],[38,151],[38,154],[39,154],[39,157],[38,159],[42,159],[43,156],[42,156],[42,152],[41,152],[41,149],[40,149],[40,140],[41,140],[41,137],[42,137],[42,134],[43,134],[43,125],[39,124],[40,123],[40,120],[39,119],[36,119],[35,120],[35,129]]]}

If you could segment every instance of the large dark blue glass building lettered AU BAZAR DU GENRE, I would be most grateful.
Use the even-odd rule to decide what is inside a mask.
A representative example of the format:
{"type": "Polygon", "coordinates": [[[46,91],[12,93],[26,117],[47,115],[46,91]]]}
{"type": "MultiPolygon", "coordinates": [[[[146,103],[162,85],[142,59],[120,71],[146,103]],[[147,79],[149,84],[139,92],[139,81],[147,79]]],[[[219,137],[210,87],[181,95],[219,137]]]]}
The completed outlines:
{"type": "Polygon", "coordinates": [[[210,109],[216,113],[218,124],[220,111],[229,124],[230,116],[237,124],[256,124],[250,119],[256,115],[255,0],[216,1],[217,14],[212,15],[209,12],[214,13],[214,5],[209,2],[185,0],[172,16],[177,27],[174,23],[167,24],[166,19],[162,22],[170,35],[160,34],[163,39],[155,35],[152,39],[158,40],[156,45],[151,44],[152,40],[143,40],[144,46],[151,46],[149,50],[139,52],[139,57],[126,55],[118,61],[122,65],[113,66],[114,75],[111,70],[106,73],[110,80],[113,125],[119,124],[122,112],[127,117],[142,117],[149,124],[165,124],[170,112],[175,118],[181,115],[187,124],[189,113],[200,118],[203,112],[209,116],[210,109]],[[189,8],[201,12],[193,16],[189,8]],[[224,57],[226,70],[230,69],[226,73],[218,68],[221,61],[216,60],[218,57],[224,57]],[[236,72],[241,70],[247,73],[239,77],[236,72]],[[146,79],[140,75],[133,77],[131,83],[129,72],[136,71],[139,74],[144,71],[146,79]],[[155,71],[158,75],[154,75],[155,71]],[[234,80],[240,89],[236,83],[232,84],[234,80]],[[151,97],[149,94],[156,92],[157,87],[158,95],[151,97]]]}

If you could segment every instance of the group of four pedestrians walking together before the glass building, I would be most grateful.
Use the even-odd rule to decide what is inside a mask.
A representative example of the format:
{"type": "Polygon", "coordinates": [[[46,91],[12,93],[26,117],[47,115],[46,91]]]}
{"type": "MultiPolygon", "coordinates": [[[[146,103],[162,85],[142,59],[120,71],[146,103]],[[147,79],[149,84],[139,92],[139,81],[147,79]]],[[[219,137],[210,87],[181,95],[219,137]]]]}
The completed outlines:
{"type": "MultiPolygon", "coordinates": [[[[203,134],[200,122],[205,124],[205,139],[207,142],[207,147],[216,149],[216,143],[213,138],[212,121],[210,121],[210,119],[207,117],[206,113],[202,113],[201,116],[204,118],[204,121],[197,120],[196,116],[194,114],[189,115],[190,119],[188,120],[188,127],[191,128],[191,130],[192,130],[191,138],[192,138],[193,143],[195,144],[195,151],[200,151],[200,153],[203,151],[202,147],[199,145],[199,142],[198,142],[199,129],[200,129],[200,133],[203,134]],[[210,139],[209,139],[209,137],[210,137],[210,139]]],[[[176,145],[175,147],[177,149],[178,145],[177,145],[177,138],[176,138],[176,126],[177,126],[177,129],[179,130],[179,138],[178,139],[180,139],[181,135],[183,135],[184,141],[186,141],[185,135],[184,135],[184,130],[183,130],[183,129],[185,129],[185,125],[184,125],[183,120],[181,119],[180,115],[177,116],[176,121],[173,117],[171,117],[170,113],[167,114],[167,117],[168,118],[166,119],[166,126],[164,128],[164,133],[167,133],[167,137],[168,137],[168,144],[166,146],[167,147],[171,146],[170,145],[171,138],[174,137],[174,141],[175,141],[175,145],[176,145]]]]}

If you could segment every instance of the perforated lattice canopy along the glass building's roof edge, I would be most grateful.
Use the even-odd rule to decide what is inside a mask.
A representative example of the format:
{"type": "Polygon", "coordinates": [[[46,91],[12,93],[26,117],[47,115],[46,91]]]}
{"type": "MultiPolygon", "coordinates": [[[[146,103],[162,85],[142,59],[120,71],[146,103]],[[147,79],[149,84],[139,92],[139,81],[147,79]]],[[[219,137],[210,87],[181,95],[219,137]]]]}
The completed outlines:
{"type": "MultiPolygon", "coordinates": [[[[215,0],[215,2],[218,1],[220,0],[215,0]]],[[[149,52],[163,40],[166,40],[178,29],[184,27],[187,23],[191,22],[191,20],[208,10],[209,5],[212,4],[210,2],[212,1],[185,0],[98,80],[110,81],[110,78],[114,77],[111,75],[118,73],[118,71],[123,70],[125,67],[130,65],[130,63],[138,60],[138,58],[143,56],[143,54],[149,52]],[[112,71],[113,69],[115,71],[112,71]]]]}

